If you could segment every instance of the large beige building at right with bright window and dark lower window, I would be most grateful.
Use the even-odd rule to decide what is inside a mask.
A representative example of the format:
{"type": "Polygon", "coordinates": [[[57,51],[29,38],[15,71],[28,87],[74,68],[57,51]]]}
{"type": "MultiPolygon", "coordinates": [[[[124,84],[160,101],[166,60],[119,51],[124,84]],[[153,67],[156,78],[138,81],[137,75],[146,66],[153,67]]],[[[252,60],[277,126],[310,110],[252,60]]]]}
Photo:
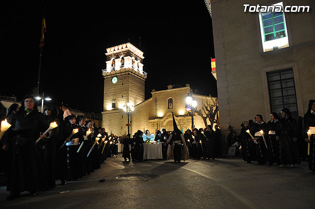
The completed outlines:
{"type": "Polygon", "coordinates": [[[271,112],[284,107],[295,118],[303,116],[315,99],[315,1],[205,3],[212,15],[222,133],[228,125],[239,130],[256,114],[267,122],[271,112]],[[244,12],[243,4],[309,5],[311,10],[244,12]]]}

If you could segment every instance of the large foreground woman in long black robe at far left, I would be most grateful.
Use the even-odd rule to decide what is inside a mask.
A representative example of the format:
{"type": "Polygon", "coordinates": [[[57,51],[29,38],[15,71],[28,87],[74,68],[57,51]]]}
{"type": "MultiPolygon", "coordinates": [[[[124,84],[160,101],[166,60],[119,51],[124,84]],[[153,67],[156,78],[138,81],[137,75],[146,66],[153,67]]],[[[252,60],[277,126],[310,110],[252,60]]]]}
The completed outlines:
{"type": "MultiPolygon", "coordinates": [[[[8,138],[8,181],[6,200],[19,197],[20,192],[29,191],[35,195],[39,190],[36,160],[38,158],[35,141],[47,129],[47,124],[32,95],[26,95],[21,108],[16,112],[12,138],[8,138]]],[[[44,136],[41,136],[42,138],[44,136]]]]}

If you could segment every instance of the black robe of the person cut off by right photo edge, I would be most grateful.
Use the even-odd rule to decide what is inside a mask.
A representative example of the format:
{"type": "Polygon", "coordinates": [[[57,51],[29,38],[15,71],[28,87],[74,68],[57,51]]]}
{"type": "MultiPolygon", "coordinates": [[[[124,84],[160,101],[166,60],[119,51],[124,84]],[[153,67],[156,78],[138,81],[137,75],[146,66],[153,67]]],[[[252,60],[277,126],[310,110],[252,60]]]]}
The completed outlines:
{"type": "MultiPolygon", "coordinates": [[[[315,127],[315,115],[307,112],[304,115],[303,138],[308,138],[307,131],[310,127],[315,127]]],[[[315,172],[315,134],[311,135],[309,169],[315,172]]]]}

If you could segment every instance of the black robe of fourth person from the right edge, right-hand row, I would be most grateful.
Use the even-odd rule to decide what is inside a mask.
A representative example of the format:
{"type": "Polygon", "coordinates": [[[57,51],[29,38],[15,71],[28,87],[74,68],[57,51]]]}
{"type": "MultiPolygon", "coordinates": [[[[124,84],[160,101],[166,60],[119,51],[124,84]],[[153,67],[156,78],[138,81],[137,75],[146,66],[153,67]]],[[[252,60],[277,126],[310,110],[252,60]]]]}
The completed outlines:
{"type": "Polygon", "coordinates": [[[266,145],[263,141],[263,137],[262,136],[255,136],[255,133],[259,132],[260,130],[263,130],[264,137],[266,139],[267,124],[265,122],[261,122],[261,124],[258,122],[252,123],[251,134],[254,138],[257,138],[257,142],[256,142],[257,144],[255,144],[257,162],[259,164],[262,164],[262,163],[266,162],[267,148],[266,148],[266,145]]]}

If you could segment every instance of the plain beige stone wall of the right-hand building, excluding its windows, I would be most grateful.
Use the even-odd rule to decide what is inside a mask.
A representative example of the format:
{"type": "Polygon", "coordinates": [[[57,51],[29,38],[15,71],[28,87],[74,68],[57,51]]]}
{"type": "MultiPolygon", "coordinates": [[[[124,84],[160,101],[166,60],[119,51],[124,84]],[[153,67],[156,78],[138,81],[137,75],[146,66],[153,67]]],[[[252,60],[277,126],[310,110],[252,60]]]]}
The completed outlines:
{"type": "MultiPolygon", "coordinates": [[[[280,2],[280,1],[278,1],[280,2]]],[[[212,23],[217,64],[221,129],[239,130],[244,120],[261,114],[270,118],[266,73],[292,68],[298,113],[303,116],[315,88],[315,13],[285,13],[289,47],[263,52],[259,17],[244,12],[243,4],[270,5],[270,0],[212,0],[212,23]],[[233,6],[231,6],[233,5],[233,6]]],[[[285,5],[310,5],[315,1],[285,0],[285,5]]]]}

